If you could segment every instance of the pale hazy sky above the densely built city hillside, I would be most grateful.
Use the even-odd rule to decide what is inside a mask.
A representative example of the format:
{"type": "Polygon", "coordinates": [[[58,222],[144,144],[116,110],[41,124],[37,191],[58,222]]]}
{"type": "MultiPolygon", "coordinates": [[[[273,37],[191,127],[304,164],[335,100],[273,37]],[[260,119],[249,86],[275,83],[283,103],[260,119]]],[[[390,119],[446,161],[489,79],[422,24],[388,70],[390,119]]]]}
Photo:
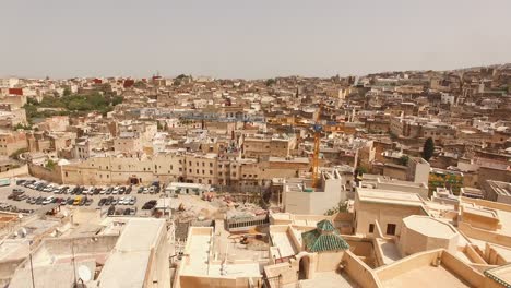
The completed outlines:
{"type": "Polygon", "coordinates": [[[510,0],[2,0],[0,76],[363,74],[511,62],[510,0]]]}

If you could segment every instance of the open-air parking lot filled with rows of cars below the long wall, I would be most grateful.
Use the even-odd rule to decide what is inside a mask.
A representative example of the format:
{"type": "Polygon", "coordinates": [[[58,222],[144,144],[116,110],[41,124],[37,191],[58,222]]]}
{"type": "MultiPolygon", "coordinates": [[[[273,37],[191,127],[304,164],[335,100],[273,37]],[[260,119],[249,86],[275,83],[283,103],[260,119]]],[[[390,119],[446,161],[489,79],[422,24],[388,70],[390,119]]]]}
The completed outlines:
{"type": "MultiPolygon", "coordinates": [[[[131,215],[134,213],[146,213],[142,209],[148,201],[156,201],[164,196],[163,189],[158,192],[156,188],[131,187],[131,191],[127,193],[128,185],[119,187],[75,187],[75,185],[59,185],[51,184],[50,187],[34,184],[25,187],[25,183],[16,184],[16,180],[31,180],[35,183],[51,184],[38,179],[12,179],[9,187],[0,187],[0,208],[3,206],[15,206],[23,212],[44,207],[45,205],[59,203],[62,206],[70,207],[90,207],[108,209],[112,204],[116,211],[120,208],[131,208],[131,215]],[[40,189],[43,188],[44,189],[40,189]],[[67,187],[67,188],[66,188],[67,187]],[[141,188],[143,191],[140,191],[141,188]],[[15,193],[13,193],[15,192],[15,193]],[[17,196],[21,195],[21,196],[17,196]],[[36,202],[36,200],[39,200],[36,202]],[[102,199],[105,199],[102,201],[102,199]],[[107,201],[108,199],[108,201],[107,201]],[[31,201],[32,200],[32,201],[31,201]],[[122,201],[123,200],[123,201],[122,201]],[[87,203],[88,202],[88,203],[87,203]],[[103,204],[103,205],[100,205],[103,204]]],[[[147,205],[146,205],[147,206],[147,205]]]]}

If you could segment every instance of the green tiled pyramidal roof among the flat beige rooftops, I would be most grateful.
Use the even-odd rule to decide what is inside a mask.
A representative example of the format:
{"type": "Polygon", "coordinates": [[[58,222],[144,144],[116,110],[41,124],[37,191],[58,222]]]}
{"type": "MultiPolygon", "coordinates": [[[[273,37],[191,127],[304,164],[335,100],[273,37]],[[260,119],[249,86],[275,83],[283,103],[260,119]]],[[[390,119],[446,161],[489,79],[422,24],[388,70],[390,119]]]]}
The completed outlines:
{"type": "Polygon", "coordinates": [[[349,244],[341,237],[330,220],[322,220],[316,225],[316,229],[302,232],[301,239],[309,252],[349,249],[349,244]]]}

